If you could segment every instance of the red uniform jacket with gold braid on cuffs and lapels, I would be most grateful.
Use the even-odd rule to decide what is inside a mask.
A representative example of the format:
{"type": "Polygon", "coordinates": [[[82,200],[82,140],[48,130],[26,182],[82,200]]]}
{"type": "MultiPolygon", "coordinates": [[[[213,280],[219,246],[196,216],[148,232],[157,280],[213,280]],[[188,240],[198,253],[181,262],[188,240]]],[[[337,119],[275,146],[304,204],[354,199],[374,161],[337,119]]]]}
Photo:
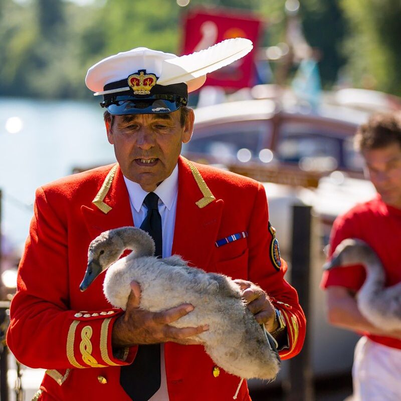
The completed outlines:
{"type": "MultiPolygon", "coordinates": [[[[136,347],[127,348],[124,360],[116,359],[111,347],[112,325],[122,311],[106,301],[102,278],[83,293],[79,284],[89,243],[105,230],[130,225],[129,196],[118,164],[37,190],[7,341],[22,363],[48,369],[38,399],[129,400],[119,373],[135,358],[136,347]]],[[[208,272],[259,284],[286,319],[289,349],[280,352],[285,359],[302,347],[305,317],[296,291],[283,278],[285,262],[277,266],[274,240],[261,184],[179,158],[172,254],[208,272]],[[215,244],[242,232],[248,237],[215,244]]],[[[233,399],[240,379],[222,369],[215,377],[217,369],[203,346],[170,342],[164,349],[170,401],[233,399]]],[[[238,399],[250,399],[245,381],[238,399]]]]}

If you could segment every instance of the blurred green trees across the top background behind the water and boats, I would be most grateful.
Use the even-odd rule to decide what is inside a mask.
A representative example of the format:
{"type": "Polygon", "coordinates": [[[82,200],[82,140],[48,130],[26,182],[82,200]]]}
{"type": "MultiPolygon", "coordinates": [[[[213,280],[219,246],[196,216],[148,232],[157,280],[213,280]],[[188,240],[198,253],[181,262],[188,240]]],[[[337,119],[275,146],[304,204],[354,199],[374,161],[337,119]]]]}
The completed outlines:
{"type": "MultiPolygon", "coordinates": [[[[143,45],[179,53],[182,18],[194,7],[247,10],[266,23],[259,45],[274,46],[286,42],[285,3],[0,0],[0,95],[91,98],[83,84],[88,67],[143,45]]],[[[307,42],[319,50],[323,85],[331,87],[340,71],[349,84],[401,94],[400,16],[399,0],[303,0],[299,17],[307,42]]]]}

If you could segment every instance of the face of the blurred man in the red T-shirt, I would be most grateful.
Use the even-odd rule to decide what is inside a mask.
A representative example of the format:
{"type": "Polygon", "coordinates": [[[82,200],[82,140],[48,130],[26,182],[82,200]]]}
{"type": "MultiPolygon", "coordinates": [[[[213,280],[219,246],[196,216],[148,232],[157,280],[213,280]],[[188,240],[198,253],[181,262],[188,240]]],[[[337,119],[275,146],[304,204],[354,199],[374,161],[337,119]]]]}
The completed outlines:
{"type": "Polygon", "coordinates": [[[377,149],[365,149],[362,156],[366,172],[383,202],[401,208],[401,146],[392,143],[377,149]]]}

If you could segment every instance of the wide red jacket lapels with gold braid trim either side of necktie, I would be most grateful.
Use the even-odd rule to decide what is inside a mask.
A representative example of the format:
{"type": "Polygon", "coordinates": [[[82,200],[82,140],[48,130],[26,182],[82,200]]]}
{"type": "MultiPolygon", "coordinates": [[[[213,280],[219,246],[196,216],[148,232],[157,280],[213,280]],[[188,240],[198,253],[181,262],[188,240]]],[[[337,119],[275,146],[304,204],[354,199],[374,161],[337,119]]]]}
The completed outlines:
{"type": "MultiPolygon", "coordinates": [[[[178,197],[172,254],[206,269],[217,239],[224,202],[216,199],[197,168],[178,159],[178,197]]],[[[117,227],[133,226],[127,187],[115,164],[90,206],[81,206],[92,238],[117,227]]]]}

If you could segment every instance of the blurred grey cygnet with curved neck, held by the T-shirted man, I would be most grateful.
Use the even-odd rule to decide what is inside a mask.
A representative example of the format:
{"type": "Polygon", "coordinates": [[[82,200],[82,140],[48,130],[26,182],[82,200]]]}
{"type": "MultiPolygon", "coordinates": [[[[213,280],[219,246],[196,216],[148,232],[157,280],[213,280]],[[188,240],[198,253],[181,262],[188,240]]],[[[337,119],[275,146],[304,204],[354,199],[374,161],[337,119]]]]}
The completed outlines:
{"type": "Polygon", "coordinates": [[[362,240],[348,238],[335,249],[326,270],[363,265],[366,279],[356,294],[360,313],[374,326],[401,330],[401,283],[384,287],[385,272],[373,249],[362,240]]]}

